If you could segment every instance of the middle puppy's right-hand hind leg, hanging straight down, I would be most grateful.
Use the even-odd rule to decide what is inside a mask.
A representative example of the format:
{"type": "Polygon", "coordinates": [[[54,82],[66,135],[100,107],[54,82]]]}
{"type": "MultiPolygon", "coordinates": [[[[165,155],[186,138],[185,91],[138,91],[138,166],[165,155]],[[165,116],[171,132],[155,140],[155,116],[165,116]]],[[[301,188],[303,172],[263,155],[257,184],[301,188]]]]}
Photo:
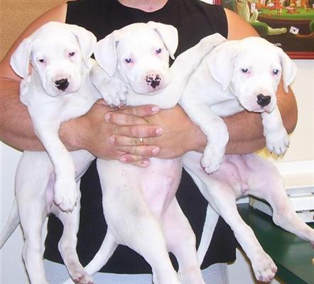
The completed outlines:
{"type": "Polygon", "coordinates": [[[183,284],[205,284],[197,260],[195,234],[176,199],[165,212],[162,226],[168,250],[178,260],[180,281],[183,284]]]}

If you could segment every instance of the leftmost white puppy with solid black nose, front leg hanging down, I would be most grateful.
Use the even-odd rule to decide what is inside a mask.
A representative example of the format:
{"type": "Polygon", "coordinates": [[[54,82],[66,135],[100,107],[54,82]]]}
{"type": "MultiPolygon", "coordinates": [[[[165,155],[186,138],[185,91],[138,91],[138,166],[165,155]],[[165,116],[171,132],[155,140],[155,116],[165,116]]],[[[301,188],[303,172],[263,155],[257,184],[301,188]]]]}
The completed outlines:
{"type": "Polygon", "coordinates": [[[31,283],[47,283],[41,231],[50,213],[64,225],[59,249],[71,277],[90,282],[76,253],[77,200],[80,177],[94,157],[83,150],[69,153],[58,129],[63,121],[85,114],[97,99],[99,93],[89,77],[95,43],[96,38],[85,28],[50,22],[24,39],[11,57],[11,67],[23,77],[21,102],[28,107],[36,136],[47,151],[23,153],[16,172],[16,200],[1,234],[2,246],[21,222],[23,260],[31,283]],[[28,75],[30,62],[33,68],[28,75]]]}

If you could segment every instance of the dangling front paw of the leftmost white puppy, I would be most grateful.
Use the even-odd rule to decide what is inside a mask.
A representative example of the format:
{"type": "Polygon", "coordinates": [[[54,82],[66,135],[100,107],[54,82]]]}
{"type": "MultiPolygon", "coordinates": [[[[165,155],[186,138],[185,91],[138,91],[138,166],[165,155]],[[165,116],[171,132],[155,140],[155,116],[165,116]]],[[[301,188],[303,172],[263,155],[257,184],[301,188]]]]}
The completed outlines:
{"type": "Polygon", "coordinates": [[[77,185],[75,180],[57,179],[53,201],[63,212],[72,212],[77,202],[77,185]]]}

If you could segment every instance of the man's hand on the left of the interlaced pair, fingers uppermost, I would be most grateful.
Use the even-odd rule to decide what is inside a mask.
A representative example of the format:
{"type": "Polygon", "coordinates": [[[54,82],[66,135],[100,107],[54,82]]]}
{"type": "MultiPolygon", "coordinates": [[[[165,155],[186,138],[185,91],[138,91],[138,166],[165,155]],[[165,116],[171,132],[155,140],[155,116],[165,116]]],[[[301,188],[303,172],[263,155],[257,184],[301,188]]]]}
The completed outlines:
{"type": "Polygon", "coordinates": [[[97,101],[84,116],[72,119],[62,124],[60,137],[70,150],[86,149],[97,158],[120,159],[124,154],[128,158],[121,158],[124,163],[134,163],[140,166],[148,165],[148,157],[156,155],[156,148],[141,143],[128,143],[123,148],[112,143],[114,133],[122,133],[125,141],[132,142],[141,137],[160,135],[158,126],[147,125],[145,116],[158,112],[158,107],[152,105],[131,107],[125,109],[110,109],[103,100],[97,101]]]}

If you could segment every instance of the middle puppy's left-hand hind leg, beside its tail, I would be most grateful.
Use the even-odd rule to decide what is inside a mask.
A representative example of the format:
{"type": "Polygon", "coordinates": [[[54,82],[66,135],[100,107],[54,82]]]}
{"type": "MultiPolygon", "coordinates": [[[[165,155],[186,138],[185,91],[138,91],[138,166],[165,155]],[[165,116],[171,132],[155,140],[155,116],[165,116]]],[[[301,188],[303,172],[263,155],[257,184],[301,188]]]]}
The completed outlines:
{"type": "Polygon", "coordinates": [[[153,271],[154,284],[179,284],[159,220],[148,208],[144,198],[136,194],[136,190],[133,195],[136,198],[128,200],[128,206],[117,206],[121,210],[118,218],[116,216],[112,222],[114,232],[121,239],[121,244],[129,246],[148,262],[153,271]],[[125,216],[128,216],[127,222],[125,216]]]}

